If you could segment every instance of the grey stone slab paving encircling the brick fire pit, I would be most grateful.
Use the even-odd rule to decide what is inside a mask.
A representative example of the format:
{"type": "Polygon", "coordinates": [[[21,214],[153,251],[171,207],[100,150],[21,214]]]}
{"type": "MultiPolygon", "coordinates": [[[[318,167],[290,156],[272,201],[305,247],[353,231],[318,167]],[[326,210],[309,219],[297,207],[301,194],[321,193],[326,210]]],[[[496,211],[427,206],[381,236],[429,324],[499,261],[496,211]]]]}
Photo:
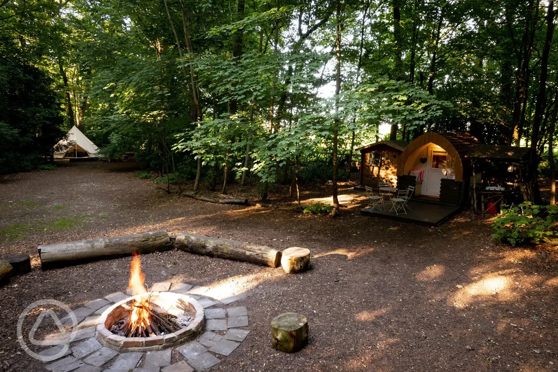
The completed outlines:
{"type": "MultiPolygon", "coordinates": [[[[204,307],[205,333],[184,345],[147,352],[118,352],[103,347],[95,338],[95,326],[100,314],[113,303],[128,298],[123,292],[111,293],[74,310],[78,319],[75,338],[68,351],[59,359],[45,365],[50,372],[192,372],[208,369],[230,355],[249,333],[246,307],[223,307],[239,299],[208,287],[194,287],[186,283],[155,283],[151,291],[171,291],[187,294],[204,307]]],[[[71,326],[70,316],[61,319],[71,326]]],[[[71,332],[48,335],[45,340],[64,340],[71,332]]],[[[52,346],[41,355],[55,355],[64,345],[52,346]]]]}

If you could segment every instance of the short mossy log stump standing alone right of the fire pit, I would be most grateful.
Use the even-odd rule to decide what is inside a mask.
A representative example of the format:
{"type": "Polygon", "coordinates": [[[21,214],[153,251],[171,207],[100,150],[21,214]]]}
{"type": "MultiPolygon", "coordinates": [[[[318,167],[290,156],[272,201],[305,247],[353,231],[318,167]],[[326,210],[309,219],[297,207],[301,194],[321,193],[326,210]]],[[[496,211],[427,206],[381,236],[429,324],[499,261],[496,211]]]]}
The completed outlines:
{"type": "Polygon", "coordinates": [[[271,345],[277,350],[296,352],[308,342],[308,321],[302,314],[286,312],[271,322],[271,345]]]}

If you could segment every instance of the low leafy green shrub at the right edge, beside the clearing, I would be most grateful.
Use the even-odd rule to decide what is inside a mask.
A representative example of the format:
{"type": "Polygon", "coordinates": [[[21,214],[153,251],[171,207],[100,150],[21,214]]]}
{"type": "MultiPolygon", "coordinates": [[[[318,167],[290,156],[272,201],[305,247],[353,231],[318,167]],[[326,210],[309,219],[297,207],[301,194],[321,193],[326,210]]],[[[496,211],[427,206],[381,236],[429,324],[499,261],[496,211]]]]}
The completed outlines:
{"type": "Polygon", "coordinates": [[[522,244],[527,241],[535,243],[554,234],[551,231],[556,220],[556,206],[531,205],[523,202],[517,206],[502,206],[502,214],[494,218],[492,227],[496,230],[492,238],[502,243],[522,244]]]}

